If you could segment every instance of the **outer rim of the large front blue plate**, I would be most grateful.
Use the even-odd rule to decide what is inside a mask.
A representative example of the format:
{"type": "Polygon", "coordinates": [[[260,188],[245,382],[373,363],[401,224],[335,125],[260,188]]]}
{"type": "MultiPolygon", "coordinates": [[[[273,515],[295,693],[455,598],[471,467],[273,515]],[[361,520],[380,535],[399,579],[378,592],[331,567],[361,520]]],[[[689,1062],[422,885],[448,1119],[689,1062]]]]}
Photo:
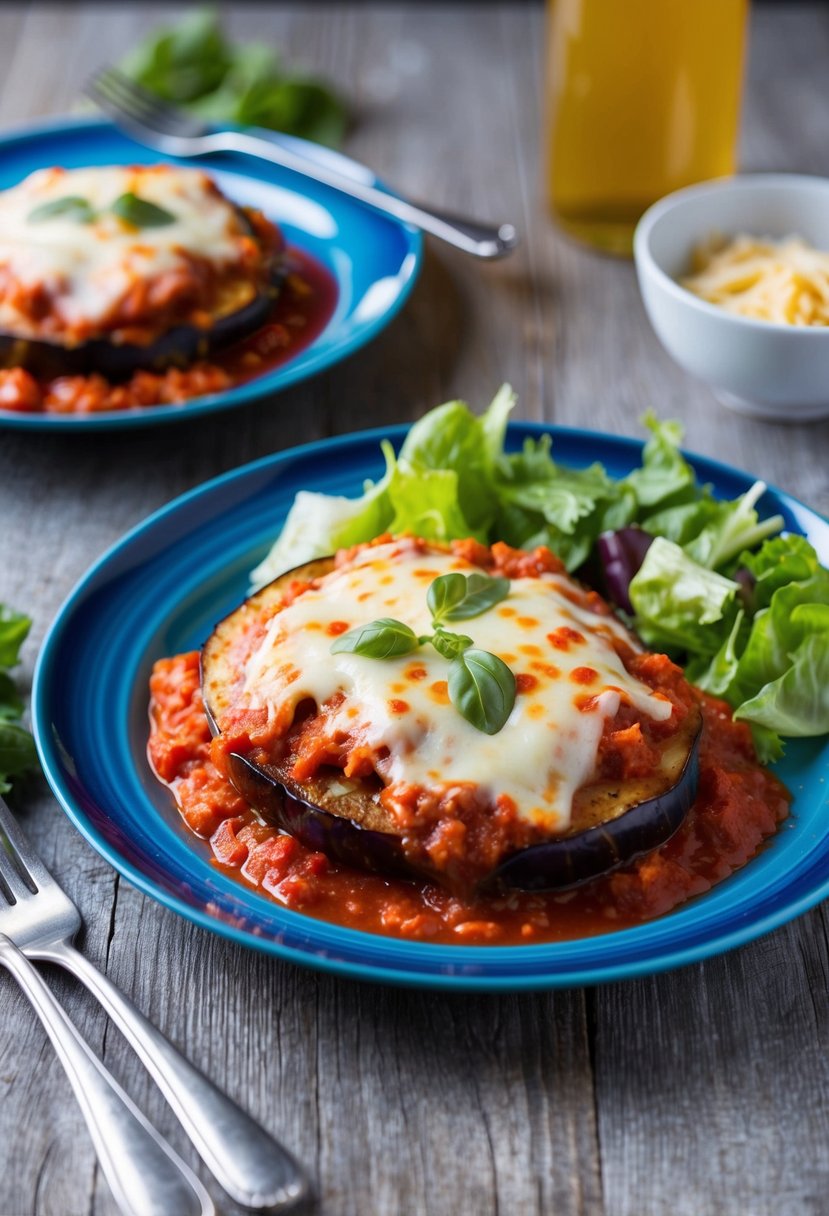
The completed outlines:
{"type": "MultiPolygon", "coordinates": [[[[43,643],[35,665],[32,716],[34,736],[38,751],[46,778],[72,823],[81,835],[103,856],[117,871],[119,871],[134,886],[143,894],[152,896],[158,902],[177,912],[185,919],[209,929],[239,945],[260,950],[265,953],[275,955],[280,958],[312,967],[318,970],[329,972],[350,979],[362,979],[399,984],[404,986],[432,987],[439,990],[463,990],[463,991],[526,991],[552,987],[576,987],[593,984],[603,984],[615,980],[635,979],[641,975],[655,974],[659,972],[700,962],[715,955],[723,953],[734,947],[748,944],[771,930],[779,928],[788,921],[808,911],[820,900],[829,895],[829,872],[818,876],[801,894],[776,902],[768,911],[750,919],[738,918],[738,923],[731,925],[727,931],[714,933],[690,941],[688,945],[671,946],[671,922],[687,910],[694,910],[695,922],[699,931],[710,928],[709,922],[717,922],[717,914],[706,914],[706,896],[683,905],[676,913],[647,922],[631,929],[621,929],[609,934],[600,934],[592,938],[581,938],[573,941],[541,944],[520,947],[464,947],[450,945],[428,945],[421,942],[401,941],[399,939],[384,938],[367,934],[360,930],[344,929],[329,922],[317,921],[300,913],[289,912],[281,906],[267,900],[269,913],[278,919],[284,927],[287,939],[303,936],[316,944],[317,948],[308,946],[295,946],[291,941],[263,938],[250,929],[239,929],[236,925],[214,916],[202,907],[196,907],[180,895],[159,886],[152,878],[143,873],[141,868],[132,865],[122,856],[117,848],[112,846],[96,828],[89,822],[84,811],[73,800],[66,788],[64,769],[60,754],[60,744],[52,737],[51,715],[49,713],[49,689],[60,665],[61,642],[66,629],[73,619],[75,612],[83,608],[84,601],[96,587],[96,582],[105,578],[109,565],[119,561],[129,550],[154,530],[159,530],[177,512],[192,508],[203,500],[205,503],[212,499],[220,499],[222,491],[232,488],[237,483],[255,479],[258,474],[272,472],[278,474],[280,469],[288,465],[301,465],[314,462],[318,456],[331,456],[332,452],[340,456],[349,450],[360,446],[368,447],[377,445],[380,439],[389,438],[397,444],[407,433],[407,426],[395,426],[390,428],[376,428],[372,430],[357,432],[349,435],[335,437],[333,439],[318,440],[304,444],[298,447],[287,449],[270,456],[261,457],[252,463],[231,469],[199,486],[190,490],[180,497],[173,500],[158,511],[153,512],[145,520],[132,528],[125,536],[112,545],[79,580],[73,591],[62,604],[43,643]],[[624,962],[600,961],[600,955],[608,948],[613,953],[614,942],[630,945],[637,934],[645,931],[650,939],[643,945],[642,953],[637,957],[628,957],[624,962]],[[609,945],[608,945],[609,944],[609,945]],[[320,948],[339,948],[346,955],[356,951],[357,958],[329,957],[320,953],[320,948]],[[654,953],[654,950],[656,951],[654,953]],[[408,969],[402,964],[394,963],[385,966],[382,962],[384,955],[391,957],[402,956],[412,964],[422,964],[423,969],[412,967],[408,969]],[[570,964],[553,972],[545,970],[543,966],[556,964],[556,956],[575,956],[580,958],[577,966],[570,964]],[[597,955],[596,962],[591,956],[597,955]],[[380,958],[380,964],[373,959],[380,958]],[[486,964],[492,964],[497,973],[481,970],[486,964]]],[[[538,437],[540,434],[552,434],[553,441],[571,444],[600,445],[611,449],[626,458],[638,455],[642,450],[642,441],[627,437],[604,434],[600,432],[586,430],[582,428],[566,428],[546,426],[542,423],[511,423],[511,445],[519,444],[526,437],[538,437]]],[[[694,466],[697,473],[703,478],[709,478],[720,483],[734,492],[743,490],[752,482],[750,474],[710,460],[704,456],[686,452],[688,460],[694,466]]],[[[596,458],[602,458],[602,452],[596,452],[596,458]]],[[[566,461],[566,458],[565,458],[566,461]]],[[[811,528],[818,527],[820,541],[825,552],[829,552],[829,520],[812,511],[805,503],[791,497],[773,485],[768,485],[768,492],[784,506],[790,517],[797,523],[811,528]]],[[[278,527],[278,523],[277,525],[278,527]]],[[[185,533],[192,535],[192,529],[185,533]]],[[[143,558],[146,562],[148,558],[143,558]]],[[[824,558],[825,559],[825,558],[824,558]]],[[[139,567],[142,561],[139,561],[139,567]]],[[[808,860],[808,858],[806,858],[808,860]]],[[[823,855],[820,857],[823,860],[823,855]]],[[[812,858],[814,861],[814,858],[812,858]]],[[[790,872],[791,873],[791,872],[790,872]]],[[[790,877],[786,876],[786,882],[790,877]]],[[[716,890],[722,890],[727,884],[722,884],[716,890]]],[[[777,897],[777,888],[772,893],[777,897]]],[[[785,894],[785,888],[784,893],[785,894]]],[[[260,896],[264,899],[264,896],[260,896]]],[[[752,900],[756,903],[757,897],[752,900]]],[[[733,912],[726,914],[734,916],[733,912]]],[[[638,939],[637,939],[638,941],[638,939]]]]}

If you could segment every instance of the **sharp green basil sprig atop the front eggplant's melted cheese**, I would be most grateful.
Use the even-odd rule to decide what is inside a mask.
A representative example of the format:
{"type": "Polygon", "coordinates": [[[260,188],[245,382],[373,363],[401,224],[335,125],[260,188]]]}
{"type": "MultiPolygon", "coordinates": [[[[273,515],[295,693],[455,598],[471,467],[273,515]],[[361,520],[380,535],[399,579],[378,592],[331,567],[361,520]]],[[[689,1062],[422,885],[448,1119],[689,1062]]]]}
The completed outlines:
{"type": "Polygon", "coordinates": [[[359,625],[332,642],[332,654],[361,654],[366,659],[390,659],[433,646],[449,659],[449,699],[475,730],[497,734],[515,704],[515,676],[489,651],[480,651],[466,634],[442,627],[446,620],[480,617],[509,595],[509,579],[486,574],[441,574],[427,591],[434,634],[421,637],[393,617],[359,625]]]}

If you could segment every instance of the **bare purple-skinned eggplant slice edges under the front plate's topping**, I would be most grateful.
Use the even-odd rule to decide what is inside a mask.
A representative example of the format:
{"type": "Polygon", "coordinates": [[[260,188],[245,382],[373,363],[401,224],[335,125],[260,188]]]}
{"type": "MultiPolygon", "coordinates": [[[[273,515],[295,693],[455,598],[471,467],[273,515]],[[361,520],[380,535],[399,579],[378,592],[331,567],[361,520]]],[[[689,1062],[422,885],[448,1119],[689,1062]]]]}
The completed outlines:
{"type": "MultiPolygon", "coordinates": [[[[241,683],[244,638],[263,615],[272,615],[284,591],[298,579],[328,574],[333,558],[320,558],[281,575],[244,601],[210,635],[202,651],[202,694],[214,734],[235,704],[241,683]]],[[[626,782],[597,782],[583,789],[569,832],[530,845],[500,862],[486,885],[521,890],[576,886],[652,852],[673,835],[688,814],[699,778],[701,715],[689,713],[664,744],[658,770],[626,782]]],[[[276,764],[255,764],[230,755],[230,778],[266,822],[337,861],[395,877],[446,883],[440,872],[414,866],[396,824],[379,803],[379,778],[349,779],[322,769],[297,782],[276,764]]]]}

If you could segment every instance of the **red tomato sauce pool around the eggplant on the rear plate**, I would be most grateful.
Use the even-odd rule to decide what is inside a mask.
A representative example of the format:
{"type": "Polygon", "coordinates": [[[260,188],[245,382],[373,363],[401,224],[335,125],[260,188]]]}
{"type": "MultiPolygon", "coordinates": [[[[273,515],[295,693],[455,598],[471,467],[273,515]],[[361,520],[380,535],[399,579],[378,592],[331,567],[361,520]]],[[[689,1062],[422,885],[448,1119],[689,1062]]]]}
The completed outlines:
{"type": "Polygon", "coordinates": [[[273,371],[305,350],[325,330],[337,304],[337,281],[311,254],[286,252],[287,275],[271,314],[248,337],[210,359],[163,372],[137,371],[123,383],[103,376],[39,379],[22,367],[0,370],[0,409],[21,413],[98,413],[186,402],[273,371]]]}

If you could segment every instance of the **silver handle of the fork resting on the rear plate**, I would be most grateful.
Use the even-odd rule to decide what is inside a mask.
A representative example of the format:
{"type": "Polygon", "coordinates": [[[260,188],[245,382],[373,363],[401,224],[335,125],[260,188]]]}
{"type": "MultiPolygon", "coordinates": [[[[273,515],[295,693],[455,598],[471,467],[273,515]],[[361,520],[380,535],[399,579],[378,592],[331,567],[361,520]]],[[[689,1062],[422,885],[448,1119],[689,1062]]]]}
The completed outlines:
{"type": "Polygon", "coordinates": [[[368,203],[387,215],[394,215],[404,224],[413,224],[414,227],[423,229],[424,232],[430,232],[432,236],[476,258],[502,258],[518,244],[518,236],[512,224],[481,224],[446,212],[427,209],[396,195],[387,195],[384,190],[309,161],[281,143],[273,143],[256,135],[247,135],[244,131],[215,131],[201,136],[198,142],[204,153],[242,152],[246,156],[259,157],[260,161],[271,161],[286,169],[295,169],[305,178],[314,178],[326,186],[333,186],[344,195],[359,198],[360,202],[368,203]]]}

